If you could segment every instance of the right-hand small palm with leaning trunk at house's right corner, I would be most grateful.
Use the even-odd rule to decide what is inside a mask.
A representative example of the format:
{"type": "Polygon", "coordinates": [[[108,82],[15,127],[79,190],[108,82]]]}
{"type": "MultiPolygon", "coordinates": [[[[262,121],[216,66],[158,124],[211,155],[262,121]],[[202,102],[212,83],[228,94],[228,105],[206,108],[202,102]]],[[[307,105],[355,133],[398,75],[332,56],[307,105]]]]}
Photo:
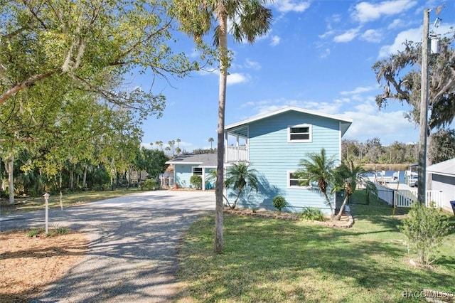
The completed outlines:
{"type": "Polygon", "coordinates": [[[345,191],[345,196],[343,203],[341,204],[340,211],[333,217],[334,220],[340,220],[341,214],[348,202],[350,196],[353,195],[355,189],[358,185],[362,185],[365,187],[367,193],[378,193],[378,188],[376,188],[375,184],[368,179],[366,176],[367,173],[371,171],[365,170],[362,166],[358,164],[354,164],[352,160],[348,160],[343,162],[340,166],[338,166],[334,171],[334,186],[332,188],[332,192],[340,191],[343,189],[345,191]]]}

